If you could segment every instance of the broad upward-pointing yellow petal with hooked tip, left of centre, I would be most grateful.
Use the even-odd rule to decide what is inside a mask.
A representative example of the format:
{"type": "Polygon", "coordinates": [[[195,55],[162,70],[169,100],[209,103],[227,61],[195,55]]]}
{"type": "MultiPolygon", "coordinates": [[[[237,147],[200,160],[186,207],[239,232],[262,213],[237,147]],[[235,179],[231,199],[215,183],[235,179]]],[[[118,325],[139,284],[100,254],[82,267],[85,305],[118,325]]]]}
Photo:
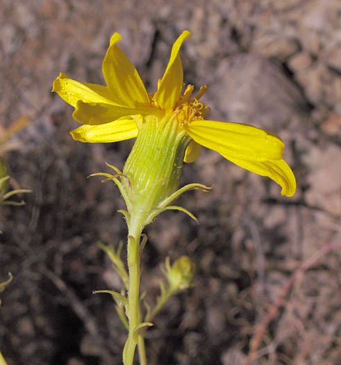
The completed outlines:
{"type": "Polygon", "coordinates": [[[146,88],[130,60],[117,42],[121,35],[115,33],[110,39],[110,46],[103,60],[104,79],[121,105],[137,107],[139,104],[150,104],[146,88]]]}

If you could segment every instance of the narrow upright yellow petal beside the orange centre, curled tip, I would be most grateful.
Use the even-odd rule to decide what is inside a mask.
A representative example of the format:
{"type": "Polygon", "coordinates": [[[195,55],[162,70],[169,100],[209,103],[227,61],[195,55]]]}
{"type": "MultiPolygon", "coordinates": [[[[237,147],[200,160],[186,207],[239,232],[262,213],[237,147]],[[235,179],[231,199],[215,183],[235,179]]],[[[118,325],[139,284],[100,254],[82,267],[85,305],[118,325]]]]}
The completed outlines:
{"type": "Polygon", "coordinates": [[[158,91],[153,99],[165,110],[172,110],[181,95],[183,88],[183,66],[178,53],[183,41],[190,36],[189,31],[183,31],[172,47],[172,53],[163,78],[159,80],[158,91]]]}

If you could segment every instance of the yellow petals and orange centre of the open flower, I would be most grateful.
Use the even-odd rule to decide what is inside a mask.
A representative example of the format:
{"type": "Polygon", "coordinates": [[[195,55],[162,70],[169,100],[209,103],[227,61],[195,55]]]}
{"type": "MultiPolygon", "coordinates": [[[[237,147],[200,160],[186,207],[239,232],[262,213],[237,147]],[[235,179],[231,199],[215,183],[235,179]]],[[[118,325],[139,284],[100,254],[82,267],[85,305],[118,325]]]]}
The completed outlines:
{"type": "Polygon", "coordinates": [[[216,122],[205,119],[210,108],[199,102],[207,90],[202,86],[192,97],[194,87],[183,89],[183,67],[179,50],[190,36],[183,31],[172,47],[158,90],[149,94],[133,64],[117,47],[122,39],[115,33],[103,60],[102,70],[107,86],[81,83],[60,73],[53,91],[74,106],[73,117],[83,125],[71,132],[82,142],[116,142],[138,136],[137,118],[155,115],[158,120],[168,113],[176,115],[178,124],[192,138],[185,161],[200,154],[200,145],[215,150],[242,168],[270,177],[282,187],[282,195],[294,195],[296,180],[283,160],[284,144],[274,134],[246,124],[216,122]]]}

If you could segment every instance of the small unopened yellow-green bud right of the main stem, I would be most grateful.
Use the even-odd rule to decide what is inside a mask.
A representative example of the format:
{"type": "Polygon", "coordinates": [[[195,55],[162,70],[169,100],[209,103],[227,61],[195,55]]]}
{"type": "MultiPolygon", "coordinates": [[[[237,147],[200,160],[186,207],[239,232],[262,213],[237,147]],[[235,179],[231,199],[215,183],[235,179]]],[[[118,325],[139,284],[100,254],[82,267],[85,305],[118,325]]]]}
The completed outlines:
{"type": "Polygon", "coordinates": [[[195,264],[188,256],[181,256],[173,265],[169,264],[169,257],[166,259],[166,277],[169,286],[173,290],[188,289],[195,274],[195,264]]]}

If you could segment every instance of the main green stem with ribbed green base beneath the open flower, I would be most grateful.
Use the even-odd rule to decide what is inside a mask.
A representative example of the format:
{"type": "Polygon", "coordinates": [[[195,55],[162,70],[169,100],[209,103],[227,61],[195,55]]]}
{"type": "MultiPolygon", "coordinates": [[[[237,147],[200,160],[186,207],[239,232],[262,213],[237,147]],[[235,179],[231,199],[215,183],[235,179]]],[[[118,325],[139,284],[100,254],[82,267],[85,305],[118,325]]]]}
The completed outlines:
{"type": "Polygon", "coordinates": [[[144,325],[140,315],[140,238],[144,226],[158,213],[174,209],[167,204],[160,209],[160,203],[178,190],[185,150],[190,143],[190,137],[172,113],[166,114],[162,120],[149,115],[142,121],[137,119],[136,123],[138,138],[120,174],[122,195],[128,209],[124,216],[128,224],[126,315],[129,331],[123,351],[124,365],[133,365],[136,346],[139,347],[140,365],[147,364],[143,337],[144,327],[151,323],[144,325]]]}

